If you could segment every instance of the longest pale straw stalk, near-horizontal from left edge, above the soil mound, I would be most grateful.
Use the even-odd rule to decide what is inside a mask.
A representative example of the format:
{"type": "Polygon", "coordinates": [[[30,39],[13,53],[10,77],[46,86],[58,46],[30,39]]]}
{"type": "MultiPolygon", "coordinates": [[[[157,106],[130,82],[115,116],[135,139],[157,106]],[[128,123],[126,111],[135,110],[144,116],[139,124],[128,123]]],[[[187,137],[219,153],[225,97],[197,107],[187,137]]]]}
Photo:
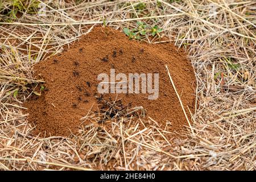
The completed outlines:
{"type": "MultiPolygon", "coordinates": [[[[142,19],[151,19],[151,18],[167,18],[173,16],[180,16],[183,13],[178,14],[170,14],[170,15],[159,15],[159,16],[147,16],[141,18],[129,18],[129,19],[117,19],[117,20],[109,20],[108,23],[118,23],[118,22],[130,22],[134,20],[142,20],[142,19]]],[[[86,22],[70,22],[70,23],[19,23],[19,22],[0,22],[0,24],[13,24],[13,25],[27,25],[27,26],[57,26],[57,25],[80,25],[80,24],[102,24],[103,21],[86,21],[86,22]]]]}

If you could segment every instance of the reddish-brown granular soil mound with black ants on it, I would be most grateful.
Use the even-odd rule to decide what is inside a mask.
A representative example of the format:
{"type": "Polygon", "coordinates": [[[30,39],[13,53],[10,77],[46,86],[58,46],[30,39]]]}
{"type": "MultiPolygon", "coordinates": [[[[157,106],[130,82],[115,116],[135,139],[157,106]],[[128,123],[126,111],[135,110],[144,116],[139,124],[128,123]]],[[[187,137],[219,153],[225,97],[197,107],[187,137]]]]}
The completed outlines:
{"type": "MultiPolygon", "coordinates": [[[[187,122],[165,65],[168,65],[189,116],[188,107],[193,111],[195,105],[195,75],[182,49],[171,43],[148,44],[129,40],[117,30],[95,27],[67,51],[34,66],[35,77],[43,78],[45,84],[41,96],[31,97],[24,104],[29,113],[28,121],[36,125],[36,134],[68,136],[77,133],[80,118],[89,110],[97,112],[97,103],[103,97],[122,100],[121,109],[143,106],[146,117],[151,117],[162,127],[170,122],[172,131],[179,130],[187,122]],[[97,76],[100,73],[110,76],[113,68],[115,74],[159,73],[158,99],[148,100],[148,94],[142,93],[98,94],[100,81],[97,76]]],[[[109,114],[109,117],[113,116],[109,114]]]]}

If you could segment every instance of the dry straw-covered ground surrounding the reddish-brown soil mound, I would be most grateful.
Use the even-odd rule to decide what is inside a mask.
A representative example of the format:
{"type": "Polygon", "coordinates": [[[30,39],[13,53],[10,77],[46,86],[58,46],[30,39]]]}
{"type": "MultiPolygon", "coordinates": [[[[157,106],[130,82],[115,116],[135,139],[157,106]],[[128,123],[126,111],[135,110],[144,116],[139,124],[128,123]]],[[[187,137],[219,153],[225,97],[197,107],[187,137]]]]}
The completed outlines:
{"type": "Polygon", "coordinates": [[[254,1],[1,2],[0,169],[255,170],[255,17],[254,1]],[[31,135],[22,103],[37,82],[32,65],[98,25],[160,43],[148,32],[134,35],[138,22],[157,26],[150,34],[183,47],[195,68],[187,130],[166,138],[154,122],[144,129],[120,122],[68,138],[31,135]]]}

